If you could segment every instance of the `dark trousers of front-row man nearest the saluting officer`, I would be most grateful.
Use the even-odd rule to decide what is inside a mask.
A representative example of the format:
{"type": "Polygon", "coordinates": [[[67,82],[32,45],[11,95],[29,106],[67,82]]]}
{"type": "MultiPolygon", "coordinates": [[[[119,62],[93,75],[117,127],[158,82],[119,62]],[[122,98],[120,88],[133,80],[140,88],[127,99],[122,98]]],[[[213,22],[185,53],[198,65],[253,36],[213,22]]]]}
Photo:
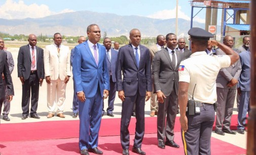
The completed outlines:
{"type": "Polygon", "coordinates": [[[178,96],[175,89],[166,96],[164,103],[158,104],[157,139],[158,141],[174,139],[174,125],[178,108],[178,96]]]}

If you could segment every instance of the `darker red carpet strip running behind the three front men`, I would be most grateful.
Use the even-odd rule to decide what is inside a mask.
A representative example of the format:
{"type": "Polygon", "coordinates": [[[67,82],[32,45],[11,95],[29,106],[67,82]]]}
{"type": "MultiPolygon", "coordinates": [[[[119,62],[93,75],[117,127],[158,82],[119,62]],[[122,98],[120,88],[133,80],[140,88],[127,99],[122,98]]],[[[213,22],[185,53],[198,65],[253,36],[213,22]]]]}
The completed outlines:
{"type": "MultiPolygon", "coordinates": [[[[180,131],[178,119],[179,117],[176,118],[174,132],[180,131]]],[[[135,122],[136,119],[132,118],[129,126],[130,134],[135,133],[135,122]]],[[[233,114],[231,119],[231,129],[236,130],[236,125],[237,114],[233,114]]],[[[156,132],[157,117],[145,118],[145,134],[156,132]]],[[[77,138],[79,136],[79,121],[45,121],[35,123],[1,124],[0,133],[0,142],[77,138]]],[[[102,119],[99,135],[119,136],[120,119],[102,119]]]]}

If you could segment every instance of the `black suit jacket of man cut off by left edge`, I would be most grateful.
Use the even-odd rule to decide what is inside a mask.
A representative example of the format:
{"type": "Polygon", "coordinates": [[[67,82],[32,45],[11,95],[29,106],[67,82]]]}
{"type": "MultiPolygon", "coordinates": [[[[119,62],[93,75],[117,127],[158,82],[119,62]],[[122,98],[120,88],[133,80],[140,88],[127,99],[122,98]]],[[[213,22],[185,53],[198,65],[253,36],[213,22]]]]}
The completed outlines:
{"type": "Polygon", "coordinates": [[[5,97],[5,85],[4,81],[2,79],[2,74],[4,73],[5,76],[5,82],[6,82],[6,87],[8,88],[8,93],[7,95],[14,95],[14,90],[13,90],[13,82],[12,82],[12,77],[11,73],[9,70],[9,65],[7,61],[7,54],[5,51],[0,50],[0,98],[5,97]]]}

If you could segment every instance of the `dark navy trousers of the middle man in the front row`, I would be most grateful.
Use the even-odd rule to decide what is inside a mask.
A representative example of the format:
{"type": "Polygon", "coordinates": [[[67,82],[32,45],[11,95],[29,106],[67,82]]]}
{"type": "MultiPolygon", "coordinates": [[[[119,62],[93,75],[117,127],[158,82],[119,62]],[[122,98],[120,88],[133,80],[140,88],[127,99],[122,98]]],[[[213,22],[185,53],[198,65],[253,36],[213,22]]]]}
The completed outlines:
{"type": "Polygon", "coordinates": [[[135,96],[125,96],[125,100],[122,103],[120,138],[123,149],[128,149],[130,145],[130,134],[128,127],[130,124],[134,104],[136,105],[136,128],[133,146],[141,148],[141,143],[144,137],[145,96],[140,96],[139,93],[137,92],[135,96]]]}

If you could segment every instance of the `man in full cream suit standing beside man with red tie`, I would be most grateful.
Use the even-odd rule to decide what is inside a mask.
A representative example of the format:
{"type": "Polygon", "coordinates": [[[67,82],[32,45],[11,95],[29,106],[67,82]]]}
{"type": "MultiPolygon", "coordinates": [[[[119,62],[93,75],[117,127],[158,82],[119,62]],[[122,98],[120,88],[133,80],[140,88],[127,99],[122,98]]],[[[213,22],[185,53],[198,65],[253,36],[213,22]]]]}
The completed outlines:
{"type": "Polygon", "coordinates": [[[60,33],[53,35],[54,44],[46,46],[44,51],[45,76],[47,82],[47,118],[54,117],[57,104],[57,117],[65,118],[63,114],[66,84],[71,75],[70,50],[61,45],[60,33]]]}

